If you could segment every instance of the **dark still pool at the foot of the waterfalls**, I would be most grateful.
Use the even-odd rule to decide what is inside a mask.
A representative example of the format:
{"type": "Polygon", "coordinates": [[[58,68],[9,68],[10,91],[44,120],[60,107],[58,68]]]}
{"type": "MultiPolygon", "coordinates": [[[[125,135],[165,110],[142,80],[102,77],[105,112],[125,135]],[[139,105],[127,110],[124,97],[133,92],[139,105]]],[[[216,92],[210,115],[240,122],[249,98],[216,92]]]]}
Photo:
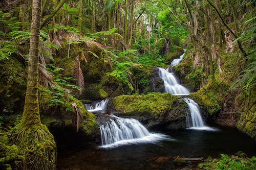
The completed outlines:
{"type": "Polygon", "coordinates": [[[87,149],[58,151],[58,169],[166,169],[159,157],[219,157],[243,151],[256,155],[256,141],[237,129],[210,125],[219,131],[160,131],[176,141],[131,144],[106,150],[91,145],[87,149]]]}

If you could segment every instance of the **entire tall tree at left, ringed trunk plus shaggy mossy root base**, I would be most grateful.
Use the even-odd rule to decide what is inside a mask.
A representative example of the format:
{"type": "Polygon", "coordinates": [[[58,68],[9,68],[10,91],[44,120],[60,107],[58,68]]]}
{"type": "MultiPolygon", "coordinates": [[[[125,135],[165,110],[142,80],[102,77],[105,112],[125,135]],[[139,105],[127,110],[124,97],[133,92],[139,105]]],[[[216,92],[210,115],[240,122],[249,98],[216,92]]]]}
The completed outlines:
{"type": "Polygon", "coordinates": [[[22,122],[14,127],[11,142],[24,156],[17,169],[55,169],[56,144],[46,126],[41,124],[38,105],[38,53],[41,0],[33,0],[29,48],[28,82],[22,122]]]}

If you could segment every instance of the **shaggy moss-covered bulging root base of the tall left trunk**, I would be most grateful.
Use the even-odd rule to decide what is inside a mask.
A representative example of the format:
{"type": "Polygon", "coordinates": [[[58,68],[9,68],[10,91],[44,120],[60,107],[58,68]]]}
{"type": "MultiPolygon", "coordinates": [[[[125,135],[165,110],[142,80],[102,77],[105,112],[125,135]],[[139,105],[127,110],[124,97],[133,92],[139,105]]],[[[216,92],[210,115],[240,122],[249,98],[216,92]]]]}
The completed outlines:
{"type": "Polygon", "coordinates": [[[17,169],[56,168],[56,144],[45,125],[24,127],[19,124],[12,130],[11,142],[17,145],[19,152],[24,156],[17,163],[17,169]]]}

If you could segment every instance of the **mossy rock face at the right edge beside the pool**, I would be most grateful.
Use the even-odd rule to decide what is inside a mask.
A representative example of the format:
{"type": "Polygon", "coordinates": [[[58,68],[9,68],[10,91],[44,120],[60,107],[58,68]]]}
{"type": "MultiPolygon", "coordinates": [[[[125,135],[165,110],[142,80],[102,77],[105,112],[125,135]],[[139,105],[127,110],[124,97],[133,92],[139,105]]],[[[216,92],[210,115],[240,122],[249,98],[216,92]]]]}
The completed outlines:
{"type": "Polygon", "coordinates": [[[256,98],[255,90],[251,90],[245,97],[241,106],[242,114],[237,124],[237,128],[253,137],[256,140],[256,98]]]}

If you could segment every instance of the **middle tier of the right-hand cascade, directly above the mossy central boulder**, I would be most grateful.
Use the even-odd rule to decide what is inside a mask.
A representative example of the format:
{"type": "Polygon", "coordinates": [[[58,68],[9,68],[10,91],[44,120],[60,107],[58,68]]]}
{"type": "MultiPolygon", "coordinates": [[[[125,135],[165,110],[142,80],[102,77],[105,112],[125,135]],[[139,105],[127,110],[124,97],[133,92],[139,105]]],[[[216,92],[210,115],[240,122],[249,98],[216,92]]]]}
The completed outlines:
{"type": "Polygon", "coordinates": [[[177,78],[172,72],[172,68],[158,68],[158,74],[164,82],[165,92],[170,92],[174,95],[188,95],[189,90],[178,83],[177,78]]]}

